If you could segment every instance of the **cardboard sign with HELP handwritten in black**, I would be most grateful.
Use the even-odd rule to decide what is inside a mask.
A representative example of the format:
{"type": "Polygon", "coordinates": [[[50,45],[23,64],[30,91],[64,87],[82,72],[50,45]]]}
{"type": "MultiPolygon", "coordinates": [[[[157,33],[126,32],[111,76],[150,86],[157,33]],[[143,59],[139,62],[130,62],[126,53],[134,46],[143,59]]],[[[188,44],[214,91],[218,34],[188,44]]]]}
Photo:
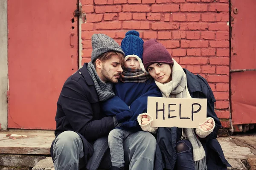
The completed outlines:
{"type": "Polygon", "coordinates": [[[206,120],[207,99],[148,97],[152,127],[198,127],[206,120]]]}

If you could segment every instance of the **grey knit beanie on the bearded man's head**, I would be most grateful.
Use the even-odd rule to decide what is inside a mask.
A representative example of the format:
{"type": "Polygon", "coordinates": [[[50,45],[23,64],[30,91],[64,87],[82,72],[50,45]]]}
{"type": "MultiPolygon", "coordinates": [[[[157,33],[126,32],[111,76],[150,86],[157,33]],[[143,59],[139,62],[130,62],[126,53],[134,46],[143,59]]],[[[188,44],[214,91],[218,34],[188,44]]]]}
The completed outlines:
{"type": "Polygon", "coordinates": [[[105,34],[93,34],[92,36],[92,62],[96,60],[100,55],[108,52],[108,51],[116,51],[122,53],[125,56],[124,51],[120,45],[113,40],[111,37],[108,37],[105,34]]]}

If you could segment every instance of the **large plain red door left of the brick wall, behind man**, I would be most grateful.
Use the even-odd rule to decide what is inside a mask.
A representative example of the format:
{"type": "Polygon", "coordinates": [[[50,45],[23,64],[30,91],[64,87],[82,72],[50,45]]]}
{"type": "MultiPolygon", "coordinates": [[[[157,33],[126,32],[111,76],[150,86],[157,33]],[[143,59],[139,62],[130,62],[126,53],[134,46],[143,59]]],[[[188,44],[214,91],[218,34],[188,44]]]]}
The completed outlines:
{"type": "Polygon", "coordinates": [[[8,0],[8,128],[55,129],[56,102],[78,69],[77,0],[8,0]]]}

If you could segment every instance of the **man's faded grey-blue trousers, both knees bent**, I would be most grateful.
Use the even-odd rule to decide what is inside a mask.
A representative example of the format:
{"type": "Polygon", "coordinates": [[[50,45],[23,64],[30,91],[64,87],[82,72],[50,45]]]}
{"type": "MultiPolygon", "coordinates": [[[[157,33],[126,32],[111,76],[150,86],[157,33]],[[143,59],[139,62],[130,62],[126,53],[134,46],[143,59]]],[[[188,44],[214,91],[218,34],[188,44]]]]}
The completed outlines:
{"type": "MultiPolygon", "coordinates": [[[[156,140],[153,135],[144,131],[131,133],[123,142],[123,147],[125,164],[128,164],[129,170],[153,170],[156,150],[156,140]]],[[[89,159],[86,168],[97,170],[101,162],[110,166],[110,160],[105,160],[109,157],[107,137],[97,139],[93,148],[93,156],[89,159]]],[[[77,133],[65,131],[58,135],[53,144],[55,170],[79,170],[84,165],[81,159],[83,156],[83,143],[77,133]]]]}

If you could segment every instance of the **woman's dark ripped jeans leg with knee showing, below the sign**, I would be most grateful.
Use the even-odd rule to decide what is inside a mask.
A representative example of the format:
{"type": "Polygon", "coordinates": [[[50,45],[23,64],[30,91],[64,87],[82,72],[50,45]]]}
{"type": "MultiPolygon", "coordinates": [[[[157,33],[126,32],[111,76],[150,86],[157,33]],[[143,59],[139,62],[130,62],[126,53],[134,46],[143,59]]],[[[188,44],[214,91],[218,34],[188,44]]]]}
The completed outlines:
{"type": "Polygon", "coordinates": [[[189,140],[181,140],[176,144],[176,170],[195,170],[192,144],[189,140]]]}

